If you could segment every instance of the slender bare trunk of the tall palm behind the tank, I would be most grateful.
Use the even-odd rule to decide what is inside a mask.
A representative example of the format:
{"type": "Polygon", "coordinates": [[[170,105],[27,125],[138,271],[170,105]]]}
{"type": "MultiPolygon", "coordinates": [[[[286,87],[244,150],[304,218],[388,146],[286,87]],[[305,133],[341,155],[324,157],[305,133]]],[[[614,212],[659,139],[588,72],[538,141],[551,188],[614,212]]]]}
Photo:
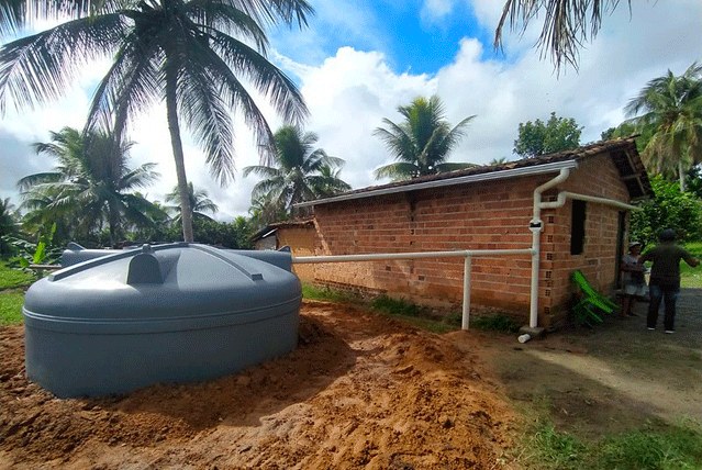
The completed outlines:
{"type": "Polygon", "coordinates": [[[192,209],[188,197],[188,179],[186,178],[185,155],[180,139],[180,126],[178,125],[178,105],[176,102],[177,71],[166,69],[166,112],[168,114],[168,131],[170,132],[170,145],[176,160],[176,176],[178,177],[178,193],[180,194],[180,220],[182,222],[182,239],[193,242],[192,236],[192,209]]]}

